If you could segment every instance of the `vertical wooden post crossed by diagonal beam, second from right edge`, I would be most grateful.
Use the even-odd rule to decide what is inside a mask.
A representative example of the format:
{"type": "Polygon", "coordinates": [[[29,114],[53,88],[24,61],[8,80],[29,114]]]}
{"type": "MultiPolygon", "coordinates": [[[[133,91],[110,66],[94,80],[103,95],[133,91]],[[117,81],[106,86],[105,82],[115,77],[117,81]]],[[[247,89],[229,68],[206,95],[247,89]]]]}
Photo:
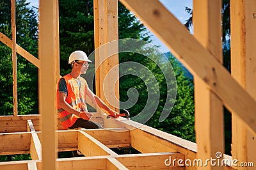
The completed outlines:
{"type": "MultiPolygon", "coordinates": [[[[193,23],[195,38],[222,62],[221,0],[194,0],[193,23]]],[[[214,72],[215,68],[212,68],[214,72]]],[[[223,105],[204,81],[195,78],[195,130],[198,144],[197,158],[216,158],[224,153],[223,105]]],[[[217,77],[216,77],[217,79],[217,77]]],[[[220,157],[221,159],[221,157],[220,157]]],[[[198,169],[223,169],[224,167],[198,167],[198,169]]]]}

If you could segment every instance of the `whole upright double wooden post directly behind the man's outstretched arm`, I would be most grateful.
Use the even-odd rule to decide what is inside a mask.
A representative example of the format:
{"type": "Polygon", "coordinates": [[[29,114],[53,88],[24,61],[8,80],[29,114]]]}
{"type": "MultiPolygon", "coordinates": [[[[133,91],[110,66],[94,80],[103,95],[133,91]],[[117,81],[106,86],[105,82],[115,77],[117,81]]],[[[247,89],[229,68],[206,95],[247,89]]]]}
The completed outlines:
{"type": "Polygon", "coordinates": [[[93,3],[95,49],[100,47],[95,51],[96,94],[110,107],[114,105],[118,108],[119,70],[118,54],[115,54],[118,52],[118,43],[109,43],[118,40],[118,1],[94,0],[93,3]],[[115,71],[109,72],[113,67],[115,71]]]}

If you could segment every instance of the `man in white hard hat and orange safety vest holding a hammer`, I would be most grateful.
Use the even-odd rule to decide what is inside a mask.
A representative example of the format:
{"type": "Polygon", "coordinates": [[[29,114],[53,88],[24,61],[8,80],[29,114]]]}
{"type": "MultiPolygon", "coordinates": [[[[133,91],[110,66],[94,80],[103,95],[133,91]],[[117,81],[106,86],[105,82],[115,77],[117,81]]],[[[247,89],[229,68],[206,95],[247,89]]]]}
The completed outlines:
{"type": "Polygon", "coordinates": [[[68,64],[72,65],[72,71],[63,76],[58,83],[58,116],[63,129],[77,127],[102,128],[99,123],[90,121],[93,113],[87,110],[86,96],[100,109],[107,111],[113,118],[118,117],[118,113],[93,94],[86,80],[80,76],[88,70],[88,62],[91,63],[92,61],[88,59],[85,52],[81,50],[72,52],[68,59],[68,64]]]}

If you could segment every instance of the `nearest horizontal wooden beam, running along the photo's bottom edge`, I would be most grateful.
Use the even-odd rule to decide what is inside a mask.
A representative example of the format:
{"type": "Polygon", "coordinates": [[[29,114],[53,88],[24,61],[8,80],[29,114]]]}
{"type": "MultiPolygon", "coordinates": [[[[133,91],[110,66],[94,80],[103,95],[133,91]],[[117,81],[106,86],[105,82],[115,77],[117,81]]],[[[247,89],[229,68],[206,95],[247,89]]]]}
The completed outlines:
{"type": "MultiPolygon", "coordinates": [[[[180,153],[143,153],[131,155],[106,155],[95,157],[58,158],[59,169],[184,169],[177,161],[184,160],[180,153]]],[[[40,160],[23,160],[15,162],[0,162],[0,169],[30,169],[39,167],[40,160]],[[28,165],[28,166],[26,166],[28,165]]]]}

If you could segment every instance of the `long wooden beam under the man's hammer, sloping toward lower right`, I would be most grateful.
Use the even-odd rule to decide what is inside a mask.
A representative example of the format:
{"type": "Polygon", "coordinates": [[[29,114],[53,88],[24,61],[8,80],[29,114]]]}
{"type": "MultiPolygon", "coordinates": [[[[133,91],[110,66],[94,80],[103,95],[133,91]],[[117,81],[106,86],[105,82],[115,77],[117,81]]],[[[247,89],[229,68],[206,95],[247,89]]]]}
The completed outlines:
{"type": "Polygon", "coordinates": [[[102,118],[105,128],[119,127],[124,132],[129,131],[131,146],[143,153],[179,151],[184,155],[188,155],[189,158],[196,158],[196,143],[125,118],[107,119],[104,116],[102,118]],[[143,140],[145,143],[140,143],[140,140],[143,140]]]}

